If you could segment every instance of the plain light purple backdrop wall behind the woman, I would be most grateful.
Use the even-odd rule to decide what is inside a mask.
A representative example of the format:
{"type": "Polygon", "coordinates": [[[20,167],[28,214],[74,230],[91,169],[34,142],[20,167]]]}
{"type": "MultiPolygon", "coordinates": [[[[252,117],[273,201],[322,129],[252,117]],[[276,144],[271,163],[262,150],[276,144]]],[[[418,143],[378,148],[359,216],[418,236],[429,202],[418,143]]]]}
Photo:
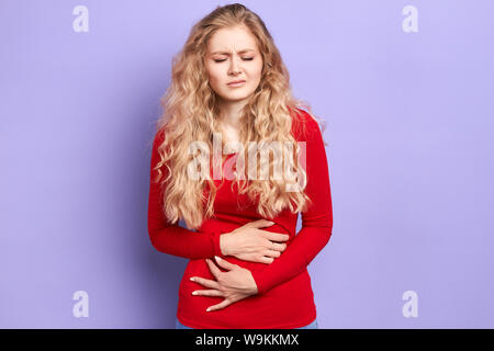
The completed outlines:
{"type": "MultiPolygon", "coordinates": [[[[150,141],[171,56],[226,3],[0,2],[0,327],[175,328],[187,260],[148,239],[150,141]]],[[[494,2],[243,3],[327,121],[319,327],[493,328],[494,2]]]]}

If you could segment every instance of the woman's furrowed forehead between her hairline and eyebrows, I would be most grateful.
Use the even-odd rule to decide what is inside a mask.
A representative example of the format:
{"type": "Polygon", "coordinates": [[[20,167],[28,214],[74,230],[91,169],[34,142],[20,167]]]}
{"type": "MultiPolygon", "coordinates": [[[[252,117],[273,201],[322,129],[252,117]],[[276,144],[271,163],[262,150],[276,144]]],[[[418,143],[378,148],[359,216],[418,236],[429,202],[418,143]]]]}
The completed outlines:
{"type": "Polygon", "coordinates": [[[256,37],[244,26],[217,30],[207,43],[210,54],[240,53],[243,50],[257,50],[256,37]]]}

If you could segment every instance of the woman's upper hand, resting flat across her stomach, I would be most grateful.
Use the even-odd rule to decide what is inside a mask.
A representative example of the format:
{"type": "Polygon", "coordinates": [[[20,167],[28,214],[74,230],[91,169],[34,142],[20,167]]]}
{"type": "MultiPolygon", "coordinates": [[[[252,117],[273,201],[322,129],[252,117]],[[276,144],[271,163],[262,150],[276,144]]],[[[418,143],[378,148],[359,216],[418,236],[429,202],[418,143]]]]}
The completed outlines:
{"type": "Polygon", "coordinates": [[[220,247],[224,256],[250,262],[272,263],[287,249],[288,234],[272,233],[259,228],[272,226],[274,223],[258,219],[220,236],[220,247]]]}

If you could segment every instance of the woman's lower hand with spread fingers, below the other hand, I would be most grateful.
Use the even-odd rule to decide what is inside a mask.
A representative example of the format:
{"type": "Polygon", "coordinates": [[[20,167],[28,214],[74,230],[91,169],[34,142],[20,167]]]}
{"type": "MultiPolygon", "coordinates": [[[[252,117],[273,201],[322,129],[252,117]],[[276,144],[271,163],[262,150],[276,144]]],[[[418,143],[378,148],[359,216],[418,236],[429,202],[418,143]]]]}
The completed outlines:
{"type": "Polygon", "coordinates": [[[206,312],[216,310],[225,308],[226,306],[246,298],[258,293],[256,281],[249,270],[242,268],[237,264],[229,263],[228,261],[215,257],[217,264],[227,270],[227,272],[222,272],[213,261],[207,260],[207,265],[211,273],[213,273],[216,281],[209,279],[192,276],[190,280],[210,287],[210,290],[198,290],[194,291],[193,295],[202,296],[223,296],[225,299],[217,305],[211,306],[206,312]]]}

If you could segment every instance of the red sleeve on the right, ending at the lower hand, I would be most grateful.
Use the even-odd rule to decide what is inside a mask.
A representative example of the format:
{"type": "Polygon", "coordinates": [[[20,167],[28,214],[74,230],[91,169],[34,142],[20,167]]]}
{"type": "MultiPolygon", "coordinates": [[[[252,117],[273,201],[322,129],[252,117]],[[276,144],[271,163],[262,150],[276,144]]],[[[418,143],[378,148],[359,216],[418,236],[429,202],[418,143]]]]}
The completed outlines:
{"type": "Polygon", "coordinates": [[[306,194],[313,201],[302,213],[302,229],[281,256],[252,271],[259,294],[302,273],[326,246],[333,231],[333,205],[326,151],[318,124],[306,114],[306,194]]]}

